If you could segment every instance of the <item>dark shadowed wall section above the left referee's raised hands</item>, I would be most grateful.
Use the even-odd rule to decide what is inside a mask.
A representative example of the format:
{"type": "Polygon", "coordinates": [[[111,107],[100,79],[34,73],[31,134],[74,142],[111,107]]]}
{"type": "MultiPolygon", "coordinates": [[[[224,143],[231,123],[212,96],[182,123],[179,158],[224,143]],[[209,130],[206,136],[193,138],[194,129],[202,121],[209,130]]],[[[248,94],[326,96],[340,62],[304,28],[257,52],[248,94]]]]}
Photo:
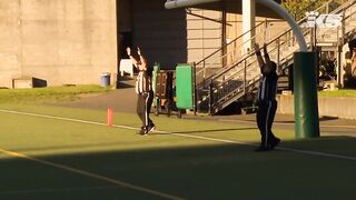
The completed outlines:
{"type": "Polygon", "coordinates": [[[166,0],[131,0],[132,46],[141,47],[150,64],[175,69],[187,62],[185,9],[165,9],[166,0]]]}

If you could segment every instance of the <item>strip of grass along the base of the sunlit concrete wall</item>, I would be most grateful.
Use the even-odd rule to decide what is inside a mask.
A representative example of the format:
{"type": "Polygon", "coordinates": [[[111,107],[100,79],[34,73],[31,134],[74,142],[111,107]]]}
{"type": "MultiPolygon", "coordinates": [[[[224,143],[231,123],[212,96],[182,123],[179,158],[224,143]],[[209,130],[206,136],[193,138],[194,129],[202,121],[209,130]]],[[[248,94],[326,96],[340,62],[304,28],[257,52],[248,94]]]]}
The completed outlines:
{"type": "Polygon", "coordinates": [[[32,103],[32,102],[59,102],[73,101],[81,94],[101,93],[110,88],[100,86],[73,86],[73,87],[47,87],[33,89],[2,89],[0,90],[0,103],[32,103]]]}

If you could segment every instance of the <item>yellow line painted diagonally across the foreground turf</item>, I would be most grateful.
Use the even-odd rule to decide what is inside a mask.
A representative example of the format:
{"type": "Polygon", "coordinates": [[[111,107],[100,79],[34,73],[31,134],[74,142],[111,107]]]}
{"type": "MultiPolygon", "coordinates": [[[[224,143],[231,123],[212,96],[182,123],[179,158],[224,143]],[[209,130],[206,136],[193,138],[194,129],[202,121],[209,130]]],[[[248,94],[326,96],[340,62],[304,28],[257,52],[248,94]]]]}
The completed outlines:
{"type": "Polygon", "coordinates": [[[71,167],[68,167],[68,166],[63,166],[63,164],[59,164],[59,163],[55,163],[55,162],[37,159],[34,157],[30,157],[30,156],[27,156],[27,154],[23,154],[23,153],[8,151],[8,150],[4,150],[4,149],[0,149],[0,152],[9,154],[9,156],[12,156],[12,157],[26,159],[26,160],[31,160],[31,161],[34,161],[34,162],[38,162],[38,163],[42,163],[42,164],[46,164],[46,166],[50,166],[50,167],[53,167],[53,168],[57,168],[57,169],[61,169],[61,170],[70,171],[70,172],[73,172],[73,173],[82,174],[85,177],[90,177],[90,178],[95,178],[95,179],[98,179],[98,180],[101,180],[101,181],[110,182],[110,183],[119,186],[119,187],[130,188],[130,189],[134,189],[134,190],[137,190],[137,191],[140,191],[140,192],[155,194],[157,197],[161,197],[161,198],[165,198],[165,199],[172,199],[172,200],[182,199],[182,198],[179,198],[179,197],[170,196],[170,194],[167,194],[167,193],[164,193],[164,192],[159,192],[159,191],[156,191],[156,190],[151,190],[151,189],[148,189],[148,188],[130,184],[130,183],[127,183],[127,182],[123,182],[123,181],[119,181],[119,180],[110,179],[108,177],[103,177],[103,176],[100,176],[100,174],[91,173],[89,171],[85,171],[85,170],[81,170],[81,169],[76,169],[76,168],[71,168],[71,167]]]}

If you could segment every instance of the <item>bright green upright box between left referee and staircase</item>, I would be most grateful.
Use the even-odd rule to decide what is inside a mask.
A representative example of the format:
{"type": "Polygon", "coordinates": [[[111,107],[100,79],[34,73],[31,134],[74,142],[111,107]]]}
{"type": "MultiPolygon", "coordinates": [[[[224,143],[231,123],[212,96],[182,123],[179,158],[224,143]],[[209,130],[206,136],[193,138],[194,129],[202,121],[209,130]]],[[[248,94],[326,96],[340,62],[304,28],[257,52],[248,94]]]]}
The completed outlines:
{"type": "Polygon", "coordinates": [[[178,64],[176,68],[176,94],[178,109],[194,109],[192,67],[178,64]]]}

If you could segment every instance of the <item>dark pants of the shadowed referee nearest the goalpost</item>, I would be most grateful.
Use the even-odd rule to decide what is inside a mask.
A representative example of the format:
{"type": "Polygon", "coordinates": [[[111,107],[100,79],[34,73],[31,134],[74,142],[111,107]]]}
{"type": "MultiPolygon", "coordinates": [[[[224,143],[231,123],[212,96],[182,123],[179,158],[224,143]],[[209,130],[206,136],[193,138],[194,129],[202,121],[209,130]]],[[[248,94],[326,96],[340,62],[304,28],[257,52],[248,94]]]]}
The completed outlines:
{"type": "Polygon", "coordinates": [[[261,137],[261,144],[265,147],[267,147],[267,142],[275,139],[275,134],[271,132],[271,124],[275,120],[276,110],[276,100],[258,103],[257,126],[261,137]]]}

